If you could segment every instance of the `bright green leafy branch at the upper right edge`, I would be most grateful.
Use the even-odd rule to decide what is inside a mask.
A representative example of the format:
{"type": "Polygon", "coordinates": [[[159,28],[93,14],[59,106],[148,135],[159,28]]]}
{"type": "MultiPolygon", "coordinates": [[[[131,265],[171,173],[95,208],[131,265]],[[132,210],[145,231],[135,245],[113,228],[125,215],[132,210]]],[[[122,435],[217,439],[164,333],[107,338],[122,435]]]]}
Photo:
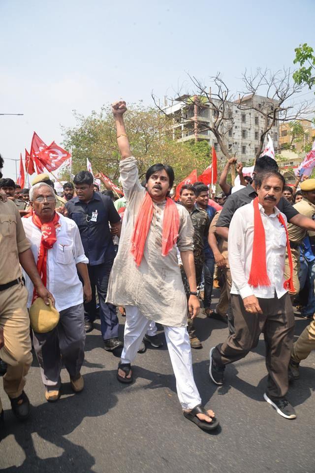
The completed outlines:
{"type": "Polygon", "coordinates": [[[293,73],[294,81],[301,85],[308,85],[309,89],[315,85],[315,55],[314,49],[307,43],[300,44],[295,48],[294,64],[299,64],[300,68],[293,73]]]}

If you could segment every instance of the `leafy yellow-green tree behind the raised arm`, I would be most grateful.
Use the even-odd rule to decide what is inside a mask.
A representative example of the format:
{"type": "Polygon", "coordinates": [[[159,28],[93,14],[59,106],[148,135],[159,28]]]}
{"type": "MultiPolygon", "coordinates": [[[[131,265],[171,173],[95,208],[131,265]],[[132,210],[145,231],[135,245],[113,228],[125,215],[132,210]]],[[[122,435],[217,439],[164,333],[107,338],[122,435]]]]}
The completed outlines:
{"type": "MultiPolygon", "coordinates": [[[[87,169],[102,171],[117,182],[119,161],[116,128],[110,105],[102,106],[85,117],[74,112],[76,126],[63,127],[63,145],[72,148],[72,173],[87,169]]],[[[201,173],[211,162],[207,141],[181,143],[173,140],[171,123],[156,108],[145,107],[142,102],[128,105],[125,115],[126,130],[132,153],[138,160],[140,178],[154,163],[162,162],[174,168],[176,182],[184,179],[192,169],[201,173]]],[[[67,172],[63,179],[69,179],[67,172]]]]}

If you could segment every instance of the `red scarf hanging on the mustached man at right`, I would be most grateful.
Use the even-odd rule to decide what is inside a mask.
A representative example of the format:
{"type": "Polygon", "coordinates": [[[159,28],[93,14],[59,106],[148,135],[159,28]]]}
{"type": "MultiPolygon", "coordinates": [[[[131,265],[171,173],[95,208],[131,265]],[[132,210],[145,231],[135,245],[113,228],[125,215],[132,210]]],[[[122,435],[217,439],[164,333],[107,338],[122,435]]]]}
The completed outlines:
{"type": "MultiPolygon", "coordinates": [[[[265,229],[262,223],[259,205],[258,205],[258,197],[256,197],[253,201],[254,207],[254,237],[253,237],[253,245],[252,245],[252,265],[251,265],[251,272],[248,283],[253,286],[270,286],[270,279],[267,274],[267,263],[266,263],[266,237],[265,237],[265,229]]],[[[287,289],[289,292],[294,292],[294,285],[293,285],[293,262],[292,262],[292,254],[291,248],[289,243],[289,235],[287,233],[287,228],[284,222],[284,218],[279,213],[277,215],[279,222],[283,225],[286,235],[286,249],[287,255],[289,259],[289,267],[290,267],[290,277],[284,281],[284,289],[287,289]]]]}

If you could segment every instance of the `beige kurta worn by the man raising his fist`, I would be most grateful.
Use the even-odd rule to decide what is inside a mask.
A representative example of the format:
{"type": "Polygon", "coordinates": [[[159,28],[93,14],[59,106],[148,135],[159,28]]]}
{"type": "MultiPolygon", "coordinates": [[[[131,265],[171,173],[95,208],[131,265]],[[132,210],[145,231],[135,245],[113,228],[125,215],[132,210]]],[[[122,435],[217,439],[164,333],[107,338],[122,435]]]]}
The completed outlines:
{"type": "Polygon", "coordinates": [[[126,211],[117,256],[110,273],[106,302],[134,305],[150,320],[170,327],[187,326],[187,298],[178,266],[179,251],[193,250],[193,226],[188,211],[177,205],[180,227],[176,245],[162,256],[165,203],[154,203],[153,218],[139,267],[131,254],[131,236],[146,190],[141,186],[135,158],[120,162],[126,211]]]}

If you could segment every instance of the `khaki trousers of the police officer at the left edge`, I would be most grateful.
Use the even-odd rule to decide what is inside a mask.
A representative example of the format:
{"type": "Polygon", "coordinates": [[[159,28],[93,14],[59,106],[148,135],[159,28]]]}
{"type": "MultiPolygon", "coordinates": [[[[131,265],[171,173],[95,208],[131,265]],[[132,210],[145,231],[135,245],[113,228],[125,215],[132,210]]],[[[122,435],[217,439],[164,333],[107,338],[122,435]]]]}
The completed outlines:
{"type": "Polygon", "coordinates": [[[17,398],[22,393],[25,376],[32,364],[27,299],[28,292],[22,284],[0,291],[0,327],[4,336],[0,358],[8,365],[3,376],[3,389],[10,398],[17,398]]]}

